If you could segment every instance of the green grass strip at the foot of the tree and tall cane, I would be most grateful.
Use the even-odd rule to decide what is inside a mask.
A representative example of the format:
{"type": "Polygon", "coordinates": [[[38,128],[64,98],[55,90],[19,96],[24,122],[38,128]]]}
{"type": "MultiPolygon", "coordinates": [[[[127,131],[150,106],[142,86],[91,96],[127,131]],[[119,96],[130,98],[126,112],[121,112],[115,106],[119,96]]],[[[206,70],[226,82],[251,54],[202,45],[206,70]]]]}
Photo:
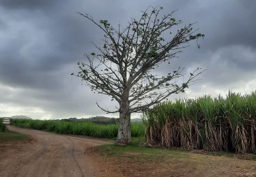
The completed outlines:
{"type": "Polygon", "coordinates": [[[201,155],[210,156],[224,156],[224,157],[234,157],[237,159],[247,159],[256,161],[256,155],[244,154],[238,155],[231,152],[206,152],[204,150],[193,150],[190,151],[186,148],[149,148],[141,146],[145,142],[145,138],[138,137],[132,138],[132,142],[129,146],[119,146],[117,144],[104,144],[102,146],[96,146],[93,148],[94,152],[98,152],[104,157],[114,157],[114,158],[128,158],[135,159],[140,162],[161,162],[169,161],[170,159],[186,160],[190,159],[191,155],[199,154],[198,159],[204,158],[201,155]]]}

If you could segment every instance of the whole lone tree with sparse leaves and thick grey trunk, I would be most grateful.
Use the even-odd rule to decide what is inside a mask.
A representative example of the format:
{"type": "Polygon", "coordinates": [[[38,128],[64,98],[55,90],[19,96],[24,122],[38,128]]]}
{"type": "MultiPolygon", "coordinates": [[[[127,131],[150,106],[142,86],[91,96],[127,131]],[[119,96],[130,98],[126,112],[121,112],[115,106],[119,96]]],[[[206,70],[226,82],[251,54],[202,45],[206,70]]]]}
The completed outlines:
{"type": "MultiPolygon", "coordinates": [[[[119,112],[118,144],[129,144],[131,139],[130,114],[143,112],[171,94],[184,92],[201,68],[190,73],[185,82],[177,79],[184,76],[180,67],[166,76],[155,76],[154,69],[186,48],[188,42],[204,35],[195,33],[193,25],[178,29],[181,20],[175,20],[173,13],[160,17],[162,7],[148,7],[141,18],[132,18],[125,29],[115,29],[108,20],[96,22],[88,14],[81,14],[104,32],[104,44],[94,46],[98,52],[85,54],[86,62],[79,62],[78,74],[85,83],[100,94],[109,95],[119,104],[116,110],[102,108],[107,113],[119,112]],[[175,34],[171,30],[177,29],[175,34]]],[[[197,43],[198,47],[199,44],[197,43]]]]}

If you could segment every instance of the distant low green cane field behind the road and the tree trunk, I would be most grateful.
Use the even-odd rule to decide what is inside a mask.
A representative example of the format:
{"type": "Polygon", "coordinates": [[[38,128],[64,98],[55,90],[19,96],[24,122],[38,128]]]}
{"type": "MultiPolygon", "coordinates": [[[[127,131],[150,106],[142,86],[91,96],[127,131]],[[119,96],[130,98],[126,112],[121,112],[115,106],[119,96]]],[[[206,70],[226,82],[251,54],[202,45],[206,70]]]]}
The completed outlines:
{"type": "MultiPolygon", "coordinates": [[[[95,138],[116,138],[117,124],[98,125],[90,122],[70,122],[67,120],[21,120],[12,119],[17,127],[52,131],[60,134],[87,135],[95,138]]],[[[143,123],[132,123],[132,137],[144,136],[143,123]]]]}

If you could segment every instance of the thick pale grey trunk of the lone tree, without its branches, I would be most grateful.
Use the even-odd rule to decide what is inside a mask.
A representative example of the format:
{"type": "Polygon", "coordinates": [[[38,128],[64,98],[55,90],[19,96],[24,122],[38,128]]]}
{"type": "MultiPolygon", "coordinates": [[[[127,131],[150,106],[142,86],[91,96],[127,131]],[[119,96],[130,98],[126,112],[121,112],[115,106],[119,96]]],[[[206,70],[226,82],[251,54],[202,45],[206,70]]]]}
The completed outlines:
{"type": "Polygon", "coordinates": [[[123,96],[122,103],[120,104],[117,144],[130,144],[131,127],[128,93],[123,96]]]}

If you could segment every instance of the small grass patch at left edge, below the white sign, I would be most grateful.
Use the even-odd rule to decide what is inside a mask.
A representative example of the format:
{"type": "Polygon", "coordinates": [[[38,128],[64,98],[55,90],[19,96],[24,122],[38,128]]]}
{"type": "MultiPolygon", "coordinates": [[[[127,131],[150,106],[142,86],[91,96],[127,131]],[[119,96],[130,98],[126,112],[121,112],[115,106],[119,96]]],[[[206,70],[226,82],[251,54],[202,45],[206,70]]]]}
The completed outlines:
{"type": "Polygon", "coordinates": [[[1,142],[14,142],[27,140],[28,136],[17,133],[15,131],[0,132],[0,143],[1,142]]]}

